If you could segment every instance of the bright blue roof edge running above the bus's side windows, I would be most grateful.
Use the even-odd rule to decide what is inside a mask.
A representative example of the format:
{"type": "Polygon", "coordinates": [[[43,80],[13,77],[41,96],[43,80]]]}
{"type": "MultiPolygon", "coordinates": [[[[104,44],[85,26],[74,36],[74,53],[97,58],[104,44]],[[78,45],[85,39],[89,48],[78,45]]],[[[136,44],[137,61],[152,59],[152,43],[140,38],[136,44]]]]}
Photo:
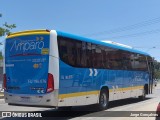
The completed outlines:
{"type": "Polygon", "coordinates": [[[134,52],[134,53],[139,53],[139,54],[150,56],[146,52],[139,51],[139,50],[136,50],[134,48],[121,46],[121,45],[118,45],[118,44],[113,44],[111,42],[105,42],[105,41],[100,41],[100,40],[96,40],[96,39],[85,38],[85,37],[81,37],[81,36],[78,36],[78,35],[73,35],[73,34],[70,34],[70,33],[61,32],[61,31],[56,31],[56,32],[57,32],[58,36],[69,37],[69,38],[73,38],[73,39],[77,39],[77,40],[81,40],[81,41],[85,41],[85,42],[95,43],[95,44],[98,44],[98,45],[108,46],[108,47],[115,48],[115,49],[120,49],[120,50],[124,50],[124,51],[129,51],[129,52],[134,52]]]}

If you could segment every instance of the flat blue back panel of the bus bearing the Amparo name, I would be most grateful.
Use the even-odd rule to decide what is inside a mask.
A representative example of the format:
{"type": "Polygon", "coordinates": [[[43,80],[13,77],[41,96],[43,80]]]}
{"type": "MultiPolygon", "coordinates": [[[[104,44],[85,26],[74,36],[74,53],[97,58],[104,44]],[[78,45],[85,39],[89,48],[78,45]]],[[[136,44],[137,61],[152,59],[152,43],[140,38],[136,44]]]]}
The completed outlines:
{"type": "Polygon", "coordinates": [[[7,91],[17,94],[46,92],[49,35],[25,35],[6,39],[7,91]]]}

